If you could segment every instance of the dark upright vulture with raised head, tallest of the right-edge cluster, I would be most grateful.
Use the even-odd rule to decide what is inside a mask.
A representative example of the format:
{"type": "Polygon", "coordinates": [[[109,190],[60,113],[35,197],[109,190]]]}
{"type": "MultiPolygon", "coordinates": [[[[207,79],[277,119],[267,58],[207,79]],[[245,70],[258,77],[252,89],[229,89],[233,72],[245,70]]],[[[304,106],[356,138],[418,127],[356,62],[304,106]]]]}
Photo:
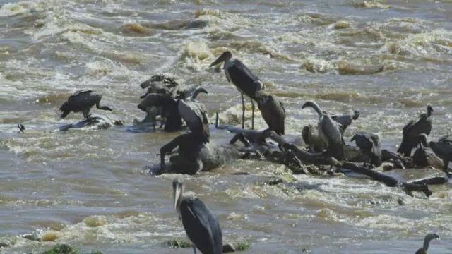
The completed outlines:
{"type": "Polygon", "coordinates": [[[419,143],[417,136],[420,133],[430,135],[432,131],[432,116],[433,108],[427,105],[427,113],[420,114],[420,119],[416,121],[412,120],[405,127],[403,127],[403,138],[400,147],[397,152],[403,154],[405,157],[411,156],[411,150],[419,143]]]}

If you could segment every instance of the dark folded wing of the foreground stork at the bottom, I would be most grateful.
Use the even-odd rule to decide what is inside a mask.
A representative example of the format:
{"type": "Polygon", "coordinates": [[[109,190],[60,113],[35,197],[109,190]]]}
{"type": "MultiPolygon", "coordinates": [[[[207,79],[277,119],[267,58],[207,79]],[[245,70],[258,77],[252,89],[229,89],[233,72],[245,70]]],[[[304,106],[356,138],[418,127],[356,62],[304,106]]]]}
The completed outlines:
{"type": "Polygon", "coordinates": [[[204,203],[194,200],[182,200],[180,205],[182,224],[187,236],[203,254],[222,253],[222,232],[218,219],[204,203]]]}

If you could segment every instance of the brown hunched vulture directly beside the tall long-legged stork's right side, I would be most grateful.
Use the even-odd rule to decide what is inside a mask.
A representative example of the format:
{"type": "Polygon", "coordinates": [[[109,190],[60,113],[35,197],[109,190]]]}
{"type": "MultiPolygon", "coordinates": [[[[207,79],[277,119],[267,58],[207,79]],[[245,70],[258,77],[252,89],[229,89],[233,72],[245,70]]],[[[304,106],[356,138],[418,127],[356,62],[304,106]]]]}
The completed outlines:
{"type": "Polygon", "coordinates": [[[278,135],[283,135],[285,121],[283,103],[274,95],[267,95],[265,92],[256,92],[256,102],[268,129],[275,131],[278,135]]]}

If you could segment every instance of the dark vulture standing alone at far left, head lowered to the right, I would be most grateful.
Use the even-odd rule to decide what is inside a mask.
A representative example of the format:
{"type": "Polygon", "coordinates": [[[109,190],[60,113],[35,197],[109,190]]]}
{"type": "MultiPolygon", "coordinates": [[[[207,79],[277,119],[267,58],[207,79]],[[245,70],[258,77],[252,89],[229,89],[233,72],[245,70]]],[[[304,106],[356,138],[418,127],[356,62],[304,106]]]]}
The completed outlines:
{"type": "Polygon", "coordinates": [[[60,118],[64,119],[69,113],[82,111],[83,117],[88,119],[90,116],[90,109],[96,105],[97,109],[113,111],[107,106],[100,106],[100,99],[102,95],[93,92],[92,90],[80,90],[69,96],[68,101],[64,102],[59,108],[62,112],[60,118]]]}

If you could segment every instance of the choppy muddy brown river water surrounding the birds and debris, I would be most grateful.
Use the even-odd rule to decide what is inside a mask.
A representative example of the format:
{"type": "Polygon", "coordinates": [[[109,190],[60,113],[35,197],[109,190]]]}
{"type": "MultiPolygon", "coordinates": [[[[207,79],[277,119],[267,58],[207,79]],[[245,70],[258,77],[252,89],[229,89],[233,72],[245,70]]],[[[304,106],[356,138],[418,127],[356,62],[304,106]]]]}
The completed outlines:
{"type": "MultiPolygon", "coordinates": [[[[9,245],[0,253],[40,253],[56,243],[83,253],[191,253],[165,245],[186,238],[172,204],[174,175],[145,170],[180,133],[134,131],[132,121],[144,116],[136,108],[140,83],[164,73],[208,90],[198,99],[211,122],[218,111],[239,126],[239,92],[208,68],[225,50],[284,103],[288,139],[317,121],[301,109],[307,100],[333,114],[361,111],[346,143],[372,131],[396,151],[403,126],[427,104],[434,108],[429,139],[451,133],[450,0],[0,4],[0,242],[9,245]],[[81,120],[59,119],[58,111],[81,89],[100,92],[114,110],[95,113],[126,124],[56,131],[81,120]]],[[[247,128],[250,119],[247,110],[247,128]]],[[[256,128],[266,128],[259,113],[256,128]]],[[[232,138],[221,130],[211,136],[220,144],[232,138]]],[[[431,186],[429,198],[411,197],[369,179],[292,175],[243,160],[182,177],[220,219],[224,241],[250,243],[247,253],[415,253],[427,232],[441,237],[429,253],[452,253],[450,184],[431,186]],[[233,174],[241,171],[251,174],[233,174]],[[269,176],[293,184],[259,184],[269,176]]]]}

